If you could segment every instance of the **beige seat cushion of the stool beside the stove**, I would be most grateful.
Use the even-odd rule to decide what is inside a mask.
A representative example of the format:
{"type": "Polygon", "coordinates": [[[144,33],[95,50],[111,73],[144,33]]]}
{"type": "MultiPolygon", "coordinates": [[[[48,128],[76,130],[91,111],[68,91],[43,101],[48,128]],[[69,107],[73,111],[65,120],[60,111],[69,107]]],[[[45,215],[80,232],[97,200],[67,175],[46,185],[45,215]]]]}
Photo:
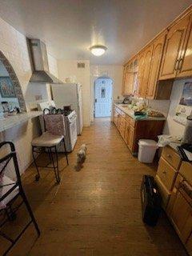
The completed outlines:
{"type": "Polygon", "coordinates": [[[50,132],[46,131],[38,138],[34,138],[31,142],[32,146],[57,146],[62,141],[63,135],[54,135],[50,134],[50,132]]]}

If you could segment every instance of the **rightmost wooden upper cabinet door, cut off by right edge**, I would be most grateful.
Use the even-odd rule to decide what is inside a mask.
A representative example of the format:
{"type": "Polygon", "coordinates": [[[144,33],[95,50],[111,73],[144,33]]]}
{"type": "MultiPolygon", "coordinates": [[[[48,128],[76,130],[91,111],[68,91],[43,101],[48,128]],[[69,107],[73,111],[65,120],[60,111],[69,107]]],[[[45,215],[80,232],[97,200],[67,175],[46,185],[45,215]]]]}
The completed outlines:
{"type": "Polygon", "coordinates": [[[190,15],[190,23],[186,32],[182,56],[178,62],[177,77],[192,76],[192,15],[190,15]]]}

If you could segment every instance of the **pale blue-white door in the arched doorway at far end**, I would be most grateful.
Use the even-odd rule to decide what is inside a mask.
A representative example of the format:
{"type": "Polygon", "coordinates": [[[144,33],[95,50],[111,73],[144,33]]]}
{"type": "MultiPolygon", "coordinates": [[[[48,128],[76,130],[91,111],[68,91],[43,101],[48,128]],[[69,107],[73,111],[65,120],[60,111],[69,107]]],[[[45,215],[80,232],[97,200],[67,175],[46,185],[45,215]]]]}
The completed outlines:
{"type": "Polygon", "coordinates": [[[113,99],[113,80],[108,77],[97,78],[94,82],[94,117],[111,116],[113,99]]]}

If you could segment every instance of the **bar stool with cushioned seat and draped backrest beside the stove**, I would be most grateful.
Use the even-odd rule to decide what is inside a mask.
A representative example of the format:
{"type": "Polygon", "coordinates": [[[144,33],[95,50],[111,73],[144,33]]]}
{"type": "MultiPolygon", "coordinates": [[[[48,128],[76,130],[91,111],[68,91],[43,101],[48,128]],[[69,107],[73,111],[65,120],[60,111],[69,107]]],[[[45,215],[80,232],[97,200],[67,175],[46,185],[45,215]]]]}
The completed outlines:
{"type": "Polygon", "coordinates": [[[35,180],[38,181],[40,178],[40,173],[38,167],[44,168],[52,168],[54,169],[56,182],[60,182],[59,169],[58,169],[58,146],[61,146],[63,143],[65,154],[66,154],[66,162],[69,165],[68,157],[66,153],[66,142],[64,135],[66,134],[65,130],[65,122],[62,114],[46,114],[46,110],[43,111],[43,120],[45,126],[45,132],[39,136],[38,138],[34,138],[31,142],[32,145],[32,154],[34,158],[34,165],[37,170],[37,175],[35,176],[35,180]],[[49,154],[50,163],[52,162],[53,166],[38,166],[34,153],[42,153],[42,151],[47,152],[49,154]],[[56,165],[54,163],[54,154],[56,156],[56,165]]]}

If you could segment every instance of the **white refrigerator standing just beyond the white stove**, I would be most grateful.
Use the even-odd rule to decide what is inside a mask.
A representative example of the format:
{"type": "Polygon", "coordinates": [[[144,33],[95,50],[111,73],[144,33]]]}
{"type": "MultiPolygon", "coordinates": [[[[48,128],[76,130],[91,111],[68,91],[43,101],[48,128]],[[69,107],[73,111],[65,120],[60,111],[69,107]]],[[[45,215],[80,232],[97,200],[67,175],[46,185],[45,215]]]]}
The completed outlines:
{"type": "Polygon", "coordinates": [[[77,113],[77,132],[82,134],[82,86],[77,83],[54,84],[51,86],[56,108],[71,106],[77,113]]]}

